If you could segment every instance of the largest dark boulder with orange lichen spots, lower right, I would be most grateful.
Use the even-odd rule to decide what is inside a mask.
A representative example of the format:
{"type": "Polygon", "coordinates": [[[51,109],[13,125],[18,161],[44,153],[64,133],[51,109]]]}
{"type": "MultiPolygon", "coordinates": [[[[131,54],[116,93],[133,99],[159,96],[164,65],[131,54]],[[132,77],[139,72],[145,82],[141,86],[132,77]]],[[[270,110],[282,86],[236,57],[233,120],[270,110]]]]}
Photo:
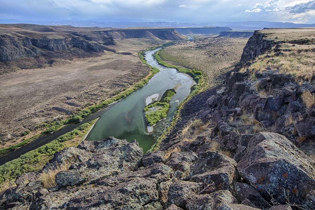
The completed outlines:
{"type": "Polygon", "coordinates": [[[315,189],[314,161],[284,136],[261,132],[250,139],[247,154],[238,162],[242,178],[265,199],[294,202],[315,189]],[[286,194],[283,193],[286,192],[286,194]]]}

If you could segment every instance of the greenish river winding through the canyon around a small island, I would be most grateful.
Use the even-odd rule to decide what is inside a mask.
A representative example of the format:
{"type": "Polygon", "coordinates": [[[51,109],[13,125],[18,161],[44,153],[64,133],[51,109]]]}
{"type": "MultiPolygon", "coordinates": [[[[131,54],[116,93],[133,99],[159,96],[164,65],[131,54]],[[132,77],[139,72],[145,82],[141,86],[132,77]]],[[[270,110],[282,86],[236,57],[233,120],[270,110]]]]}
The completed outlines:
{"type": "Polygon", "coordinates": [[[143,88],[110,105],[96,122],[86,140],[100,140],[109,136],[128,141],[136,139],[144,152],[150,149],[162,133],[163,128],[172,120],[176,107],[190,94],[191,87],[196,84],[189,75],[159,65],[153,58],[153,54],[160,49],[145,53],[147,63],[159,69],[160,72],[152,77],[143,88]],[[176,90],[176,94],[170,101],[171,108],[166,119],[157,122],[153,128],[148,127],[144,107],[151,102],[151,99],[159,100],[163,93],[171,88],[176,90]]]}

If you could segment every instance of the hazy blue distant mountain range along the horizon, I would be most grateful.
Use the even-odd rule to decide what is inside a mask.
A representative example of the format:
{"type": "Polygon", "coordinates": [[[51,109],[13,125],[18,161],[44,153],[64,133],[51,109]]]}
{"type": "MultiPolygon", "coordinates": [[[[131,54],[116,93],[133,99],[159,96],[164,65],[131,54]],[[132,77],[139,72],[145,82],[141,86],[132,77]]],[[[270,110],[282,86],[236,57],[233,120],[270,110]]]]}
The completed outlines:
{"type": "Polygon", "coordinates": [[[243,22],[209,22],[209,23],[178,23],[178,22],[102,22],[93,20],[61,20],[61,21],[27,21],[27,20],[5,20],[0,19],[2,24],[28,23],[38,25],[71,25],[76,27],[202,27],[220,26],[230,27],[233,30],[260,30],[263,28],[302,28],[315,27],[315,24],[295,24],[289,22],[268,22],[268,21],[243,21],[243,22]]]}

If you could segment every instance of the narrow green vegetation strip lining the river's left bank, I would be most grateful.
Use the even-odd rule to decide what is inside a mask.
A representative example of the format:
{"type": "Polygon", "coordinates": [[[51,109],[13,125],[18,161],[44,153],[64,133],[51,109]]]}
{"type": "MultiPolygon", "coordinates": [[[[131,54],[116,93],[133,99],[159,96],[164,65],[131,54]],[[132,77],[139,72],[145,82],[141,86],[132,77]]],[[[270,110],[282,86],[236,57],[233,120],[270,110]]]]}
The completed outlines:
{"type": "MultiPolygon", "coordinates": [[[[83,120],[83,118],[105,108],[106,106],[114,103],[115,101],[118,101],[120,99],[123,99],[124,97],[126,97],[127,95],[130,95],[131,93],[133,93],[135,90],[139,89],[139,88],[142,88],[145,84],[147,84],[149,82],[149,80],[159,72],[159,70],[157,68],[154,68],[152,66],[150,66],[145,58],[144,58],[144,53],[148,50],[153,50],[155,48],[158,48],[158,47],[161,47],[161,46],[157,46],[157,47],[152,47],[152,48],[149,48],[145,51],[142,51],[139,53],[139,57],[140,57],[140,60],[146,64],[147,66],[149,66],[151,68],[151,71],[149,73],[149,76],[146,77],[145,79],[141,80],[140,82],[138,82],[137,84],[133,85],[131,88],[128,88],[126,90],[123,90],[123,92],[121,93],[118,93],[115,97],[113,97],[112,99],[106,99],[106,100],[103,100],[101,103],[99,104],[95,104],[95,105],[92,105],[92,106],[89,106],[83,110],[79,110],[78,113],[76,114],[73,114],[70,118],[68,119],[65,119],[65,120],[61,120],[61,121],[54,121],[54,122],[50,122],[50,123],[45,123],[41,126],[39,126],[38,128],[46,128],[45,131],[43,131],[42,133],[40,134],[37,134],[36,136],[33,136],[29,139],[25,139],[23,140],[22,142],[20,142],[19,144],[16,144],[16,145],[13,145],[13,146],[10,146],[10,147],[7,147],[7,148],[3,148],[3,149],[0,149],[0,155],[3,155],[7,152],[10,152],[10,151],[13,151],[13,150],[16,150],[22,146],[25,146],[27,145],[28,143],[30,143],[31,141],[33,141],[34,139],[37,139],[38,137],[40,136],[43,136],[43,135],[46,135],[46,134],[49,134],[49,133],[53,133],[57,130],[59,130],[60,128],[62,128],[64,125],[66,124],[70,124],[70,123],[73,123],[73,122],[79,122],[81,120],[83,120]]],[[[37,128],[37,129],[38,129],[37,128]]]]}

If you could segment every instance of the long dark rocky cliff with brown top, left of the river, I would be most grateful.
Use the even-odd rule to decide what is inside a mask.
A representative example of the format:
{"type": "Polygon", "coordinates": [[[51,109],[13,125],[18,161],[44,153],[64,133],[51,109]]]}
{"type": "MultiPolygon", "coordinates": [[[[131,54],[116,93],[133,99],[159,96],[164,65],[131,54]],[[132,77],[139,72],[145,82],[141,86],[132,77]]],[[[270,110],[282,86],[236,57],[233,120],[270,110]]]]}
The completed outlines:
{"type": "Polygon", "coordinates": [[[102,52],[114,39],[145,38],[152,40],[184,39],[175,29],[76,28],[72,26],[0,25],[0,61],[45,56],[45,51],[59,52],[79,48],[85,52],[102,52]]]}

